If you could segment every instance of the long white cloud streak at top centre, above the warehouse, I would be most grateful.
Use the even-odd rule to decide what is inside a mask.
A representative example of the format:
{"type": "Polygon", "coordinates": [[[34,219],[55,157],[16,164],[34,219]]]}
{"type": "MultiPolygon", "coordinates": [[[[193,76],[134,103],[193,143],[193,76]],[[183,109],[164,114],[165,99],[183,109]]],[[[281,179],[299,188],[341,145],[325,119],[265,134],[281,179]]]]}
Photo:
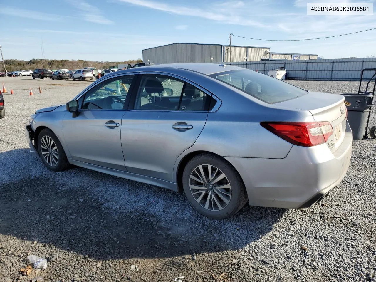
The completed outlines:
{"type": "Polygon", "coordinates": [[[242,17],[234,12],[235,9],[241,9],[244,6],[244,3],[239,1],[237,3],[226,2],[221,3],[220,5],[212,4],[210,9],[201,9],[185,6],[171,5],[167,3],[161,3],[150,0],[117,0],[118,2],[129,3],[136,6],[146,7],[158,11],[164,11],[170,14],[184,15],[190,17],[200,17],[206,18],[208,20],[221,21],[228,24],[238,24],[242,26],[255,26],[255,27],[266,27],[265,24],[262,24],[255,20],[250,20],[249,15],[247,17],[242,17]],[[219,11],[216,10],[218,6],[219,11]]]}

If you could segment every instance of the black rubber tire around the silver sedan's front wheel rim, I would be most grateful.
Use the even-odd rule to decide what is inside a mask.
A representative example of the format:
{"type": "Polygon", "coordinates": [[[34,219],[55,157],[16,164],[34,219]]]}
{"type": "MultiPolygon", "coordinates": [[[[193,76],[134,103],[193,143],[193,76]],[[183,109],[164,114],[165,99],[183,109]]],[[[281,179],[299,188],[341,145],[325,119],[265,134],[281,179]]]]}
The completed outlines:
{"type": "Polygon", "coordinates": [[[56,137],[55,133],[53,133],[50,129],[48,129],[48,128],[43,129],[39,133],[37,145],[38,145],[39,156],[41,156],[43,164],[49,170],[52,170],[52,171],[63,171],[63,170],[66,170],[69,167],[69,162],[68,162],[68,159],[67,159],[67,155],[65,155],[64,149],[61,146],[61,143],[60,143],[58,137],[56,137]],[[53,140],[53,142],[55,142],[55,144],[56,144],[56,148],[58,150],[58,161],[57,161],[57,164],[55,166],[52,166],[49,163],[47,163],[47,161],[42,156],[41,140],[42,140],[42,138],[44,136],[49,136],[53,140]]]}

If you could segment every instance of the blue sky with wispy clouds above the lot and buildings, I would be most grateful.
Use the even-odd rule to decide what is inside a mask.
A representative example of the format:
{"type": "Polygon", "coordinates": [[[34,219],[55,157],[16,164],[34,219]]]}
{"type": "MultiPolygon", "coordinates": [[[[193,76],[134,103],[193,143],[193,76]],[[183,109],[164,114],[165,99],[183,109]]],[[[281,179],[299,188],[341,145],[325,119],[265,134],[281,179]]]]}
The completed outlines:
{"type": "MultiPolygon", "coordinates": [[[[59,0],[0,1],[0,45],[6,59],[125,61],[142,49],[174,42],[228,44],[229,33],[302,39],[376,27],[376,15],[308,16],[318,0],[59,0]]],[[[356,2],[370,2],[362,0],[356,2]]],[[[376,8],[376,7],[375,7],[376,8]]],[[[376,30],[303,42],[232,38],[233,45],[325,59],[376,56],[376,30]]]]}

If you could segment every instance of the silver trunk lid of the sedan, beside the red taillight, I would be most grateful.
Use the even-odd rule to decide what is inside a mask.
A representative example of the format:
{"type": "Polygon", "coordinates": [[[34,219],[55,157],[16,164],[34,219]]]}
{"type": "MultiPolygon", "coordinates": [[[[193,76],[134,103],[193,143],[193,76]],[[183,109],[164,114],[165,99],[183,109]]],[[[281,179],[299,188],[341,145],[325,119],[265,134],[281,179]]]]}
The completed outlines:
{"type": "Polygon", "coordinates": [[[335,152],[342,144],[346,130],[346,106],[344,102],[345,98],[340,94],[309,91],[302,97],[277,105],[306,110],[311,112],[315,121],[329,122],[333,128],[333,134],[326,144],[331,152],[335,152]]]}

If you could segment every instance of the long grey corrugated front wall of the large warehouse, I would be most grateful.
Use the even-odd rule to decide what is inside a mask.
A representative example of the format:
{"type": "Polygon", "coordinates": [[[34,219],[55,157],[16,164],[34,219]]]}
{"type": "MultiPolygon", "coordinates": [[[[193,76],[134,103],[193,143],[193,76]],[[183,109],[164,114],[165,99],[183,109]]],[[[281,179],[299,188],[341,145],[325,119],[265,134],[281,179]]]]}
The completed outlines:
{"type": "Polygon", "coordinates": [[[212,63],[222,61],[221,49],[221,45],[171,44],[143,50],[142,55],[144,62],[149,59],[153,64],[212,63]]]}

